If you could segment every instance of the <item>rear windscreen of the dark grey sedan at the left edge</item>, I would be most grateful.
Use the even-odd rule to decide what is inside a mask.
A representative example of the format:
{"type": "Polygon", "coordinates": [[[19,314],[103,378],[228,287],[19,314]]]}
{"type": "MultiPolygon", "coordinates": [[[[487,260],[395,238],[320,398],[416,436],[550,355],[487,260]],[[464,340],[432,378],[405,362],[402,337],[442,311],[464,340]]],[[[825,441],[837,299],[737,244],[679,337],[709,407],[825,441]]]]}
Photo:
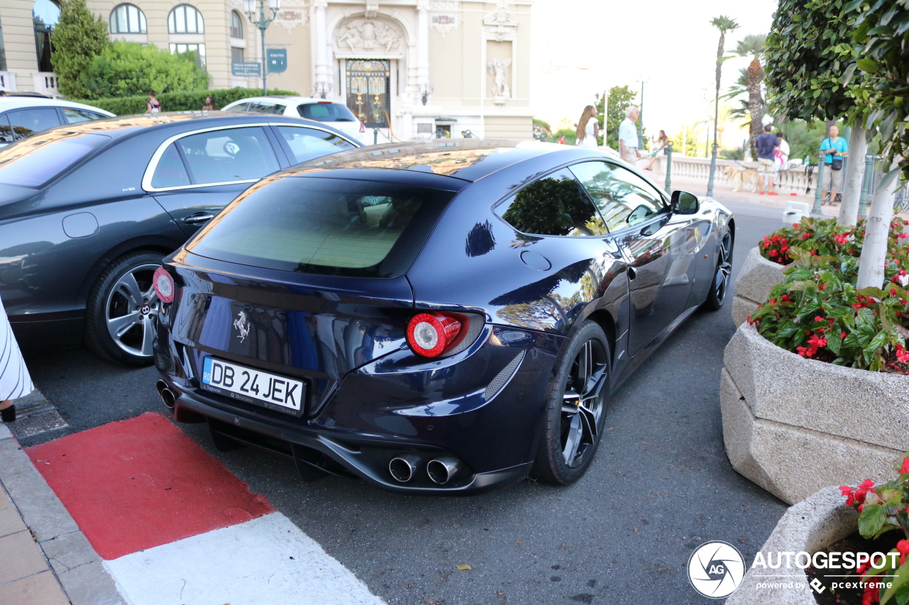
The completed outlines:
{"type": "Polygon", "coordinates": [[[110,142],[104,134],[37,134],[0,149],[0,183],[40,187],[95,149],[110,142]]]}

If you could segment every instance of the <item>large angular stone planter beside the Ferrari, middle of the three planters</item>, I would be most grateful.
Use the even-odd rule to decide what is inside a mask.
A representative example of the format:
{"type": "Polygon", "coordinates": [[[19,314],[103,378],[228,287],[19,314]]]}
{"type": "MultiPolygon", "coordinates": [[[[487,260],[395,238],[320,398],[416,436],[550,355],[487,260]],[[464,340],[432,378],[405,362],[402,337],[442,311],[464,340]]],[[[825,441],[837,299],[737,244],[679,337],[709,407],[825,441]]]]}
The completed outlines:
{"type": "Polygon", "coordinates": [[[735,471],[790,504],[828,485],[895,477],[909,450],[909,377],[804,359],[739,326],[720,409],[735,471]]]}

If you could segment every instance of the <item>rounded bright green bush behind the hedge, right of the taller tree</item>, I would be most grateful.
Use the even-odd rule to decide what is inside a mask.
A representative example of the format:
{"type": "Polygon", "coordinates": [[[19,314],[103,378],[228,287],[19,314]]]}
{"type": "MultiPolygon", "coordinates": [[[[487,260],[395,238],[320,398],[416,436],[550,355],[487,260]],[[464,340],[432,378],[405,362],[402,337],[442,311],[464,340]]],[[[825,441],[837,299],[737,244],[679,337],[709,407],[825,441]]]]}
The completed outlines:
{"type": "Polygon", "coordinates": [[[205,90],[208,74],[195,53],[172,55],[155,45],[115,42],[95,56],[76,83],[85,99],[131,96],[153,89],[159,93],[205,90]]]}

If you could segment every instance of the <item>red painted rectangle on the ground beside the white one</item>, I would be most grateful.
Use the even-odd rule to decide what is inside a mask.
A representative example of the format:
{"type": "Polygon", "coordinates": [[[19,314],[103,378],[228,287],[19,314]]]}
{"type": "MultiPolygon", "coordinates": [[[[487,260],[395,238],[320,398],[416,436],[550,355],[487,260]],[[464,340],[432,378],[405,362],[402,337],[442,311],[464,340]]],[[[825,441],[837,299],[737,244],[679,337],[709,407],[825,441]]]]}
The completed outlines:
{"type": "Polygon", "coordinates": [[[274,511],[160,413],[27,453],[106,560],[274,511]]]}

